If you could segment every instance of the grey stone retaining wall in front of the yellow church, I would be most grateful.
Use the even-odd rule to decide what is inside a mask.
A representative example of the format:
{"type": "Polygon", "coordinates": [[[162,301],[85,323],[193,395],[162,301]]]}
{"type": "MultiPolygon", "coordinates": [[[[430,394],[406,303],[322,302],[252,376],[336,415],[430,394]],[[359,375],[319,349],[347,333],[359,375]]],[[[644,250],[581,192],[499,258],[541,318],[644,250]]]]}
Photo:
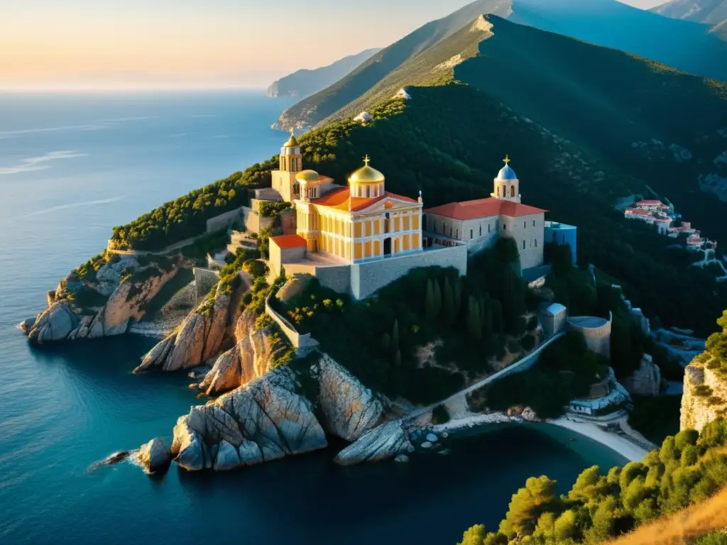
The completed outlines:
{"type": "Polygon", "coordinates": [[[350,289],[356,299],[366,299],[374,292],[419,267],[454,267],[467,274],[467,246],[427,249],[415,254],[387,257],[351,265],[350,289]]]}

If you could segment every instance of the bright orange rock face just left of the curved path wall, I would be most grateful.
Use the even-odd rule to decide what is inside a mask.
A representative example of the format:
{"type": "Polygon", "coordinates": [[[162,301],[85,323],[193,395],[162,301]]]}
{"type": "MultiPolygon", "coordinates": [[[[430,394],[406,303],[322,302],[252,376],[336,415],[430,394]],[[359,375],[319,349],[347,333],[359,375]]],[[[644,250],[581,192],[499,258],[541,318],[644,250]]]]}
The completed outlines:
{"type": "Polygon", "coordinates": [[[270,371],[275,352],[268,328],[255,328],[257,315],[243,312],[235,326],[236,344],[220,355],[199,385],[207,395],[229,392],[270,371]]]}

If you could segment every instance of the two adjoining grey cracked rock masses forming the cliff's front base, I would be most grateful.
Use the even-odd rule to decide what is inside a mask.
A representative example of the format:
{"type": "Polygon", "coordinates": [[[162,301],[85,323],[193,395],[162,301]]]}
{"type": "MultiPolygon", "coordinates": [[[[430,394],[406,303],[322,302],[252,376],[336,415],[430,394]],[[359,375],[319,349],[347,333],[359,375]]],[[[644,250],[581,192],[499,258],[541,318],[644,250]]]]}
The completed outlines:
{"type": "MultiPolygon", "coordinates": [[[[192,407],[174,427],[177,464],[190,471],[260,464],[325,448],[326,432],[357,440],[382,421],[382,401],[356,377],[326,355],[306,361],[275,368],[192,407]]],[[[349,459],[356,463],[377,456],[349,459]]]]}

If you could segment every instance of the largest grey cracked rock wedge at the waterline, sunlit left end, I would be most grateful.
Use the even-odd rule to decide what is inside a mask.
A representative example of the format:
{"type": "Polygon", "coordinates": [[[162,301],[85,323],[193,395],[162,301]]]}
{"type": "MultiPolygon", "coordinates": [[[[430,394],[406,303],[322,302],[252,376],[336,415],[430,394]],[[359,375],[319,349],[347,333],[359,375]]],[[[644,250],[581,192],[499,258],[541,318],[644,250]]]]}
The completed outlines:
{"type": "Polygon", "coordinates": [[[278,368],[204,406],[174,427],[181,467],[235,469],[325,448],[326,435],[293,371],[278,368]]]}

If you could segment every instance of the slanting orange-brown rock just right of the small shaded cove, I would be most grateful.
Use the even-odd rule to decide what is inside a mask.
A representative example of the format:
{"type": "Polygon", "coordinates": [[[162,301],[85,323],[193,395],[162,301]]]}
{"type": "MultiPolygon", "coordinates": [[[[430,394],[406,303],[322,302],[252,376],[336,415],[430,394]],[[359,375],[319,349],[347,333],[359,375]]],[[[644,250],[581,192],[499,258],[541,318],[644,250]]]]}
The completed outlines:
{"type": "Polygon", "coordinates": [[[220,294],[214,302],[203,302],[182,322],[179,330],[159,342],[142,358],[134,373],[152,367],[179,371],[196,367],[220,353],[227,335],[230,294],[220,294]]]}

